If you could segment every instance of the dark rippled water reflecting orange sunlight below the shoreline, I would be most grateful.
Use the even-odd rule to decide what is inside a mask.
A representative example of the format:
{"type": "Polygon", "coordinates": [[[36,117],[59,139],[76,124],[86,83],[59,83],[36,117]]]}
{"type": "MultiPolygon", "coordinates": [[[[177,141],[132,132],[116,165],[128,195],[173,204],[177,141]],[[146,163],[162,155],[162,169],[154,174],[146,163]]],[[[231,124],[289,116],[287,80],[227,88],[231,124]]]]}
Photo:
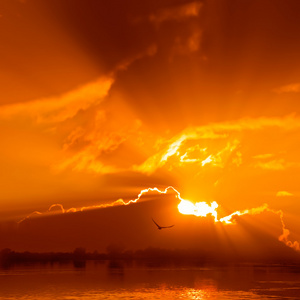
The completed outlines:
{"type": "Polygon", "coordinates": [[[88,262],[0,269],[0,299],[300,299],[299,266],[88,262]]]}

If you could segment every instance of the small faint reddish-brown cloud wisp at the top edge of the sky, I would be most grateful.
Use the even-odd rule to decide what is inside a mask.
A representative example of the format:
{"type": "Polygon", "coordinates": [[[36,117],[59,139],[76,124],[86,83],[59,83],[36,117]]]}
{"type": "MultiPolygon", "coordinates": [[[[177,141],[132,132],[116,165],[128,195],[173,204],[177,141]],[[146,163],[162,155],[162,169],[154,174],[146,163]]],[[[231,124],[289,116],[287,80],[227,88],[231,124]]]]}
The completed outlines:
{"type": "Polygon", "coordinates": [[[181,21],[186,18],[197,17],[199,15],[202,3],[194,1],[181,6],[161,9],[149,16],[149,21],[156,26],[167,21],[181,21]]]}

